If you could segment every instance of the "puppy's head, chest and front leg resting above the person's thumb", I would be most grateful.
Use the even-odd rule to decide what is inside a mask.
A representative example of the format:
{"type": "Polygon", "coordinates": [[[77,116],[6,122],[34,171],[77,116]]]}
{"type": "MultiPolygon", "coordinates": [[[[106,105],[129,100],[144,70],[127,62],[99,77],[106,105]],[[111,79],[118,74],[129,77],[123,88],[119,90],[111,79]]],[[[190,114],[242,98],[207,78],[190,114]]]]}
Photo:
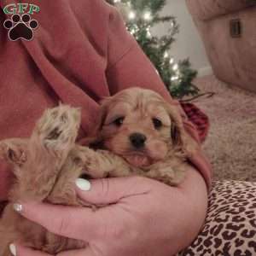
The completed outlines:
{"type": "Polygon", "coordinates": [[[183,128],[176,106],[152,90],[131,88],[102,102],[95,143],[127,166],[108,175],[140,174],[168,185],[184,178],[187,160],[198,145],[183,128]]]}

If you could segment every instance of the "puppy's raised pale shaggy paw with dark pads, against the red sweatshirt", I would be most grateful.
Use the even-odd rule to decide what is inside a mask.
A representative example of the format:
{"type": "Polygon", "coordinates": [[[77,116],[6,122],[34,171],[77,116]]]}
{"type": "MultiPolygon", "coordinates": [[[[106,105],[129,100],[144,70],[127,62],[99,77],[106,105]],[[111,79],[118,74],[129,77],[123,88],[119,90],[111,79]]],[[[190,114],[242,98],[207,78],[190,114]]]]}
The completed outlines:
{"type": "Polygon", "coordinates": [[[78,135],[80,111],[67,105],[47,109],[38,120],[33,138],[39,139],[45,148],[67,150],[78,135]]]}

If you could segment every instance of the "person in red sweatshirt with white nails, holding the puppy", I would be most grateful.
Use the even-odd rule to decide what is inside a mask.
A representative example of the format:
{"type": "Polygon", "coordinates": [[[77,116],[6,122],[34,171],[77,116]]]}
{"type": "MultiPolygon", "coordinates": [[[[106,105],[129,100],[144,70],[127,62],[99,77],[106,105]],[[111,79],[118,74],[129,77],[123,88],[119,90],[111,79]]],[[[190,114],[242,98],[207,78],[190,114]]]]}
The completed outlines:
{"type": "MultiPolygon", "coordinates": [[[[134,86],[154,90],[178,108],[108,3],[27,2],[41,9],[33,16],[39,26],[32,41],[10,42],[0,27],[0,139],[29,137],[44,109],[61,101],[82,110],[80,140],[94,129],[99,101],[134,86]]],[[[2,1],[1,8],[8,3],[2,1]]],[[[1,13],[0,18],[2,22],[7,16],[1,13]]],[[[186,130],[199,143],[194,126],[182,110],[181,114],[186,130]]],[[[1,201],[7,199],[11,183],[11,170],[1,161],[1,201]]],[[[59,256],[170,256],[189,246],[201,230],[210,186],[211,168],[198,150],[177,187],[143,177],[79,179],[76,191],[82,200],[109,206],[92,212],[31,201],[17,202],[15,209],[57,235],[89,243],[59,256]]],[[[18,256],[47,255],[16,241],[10,251],[18,256]]]]}

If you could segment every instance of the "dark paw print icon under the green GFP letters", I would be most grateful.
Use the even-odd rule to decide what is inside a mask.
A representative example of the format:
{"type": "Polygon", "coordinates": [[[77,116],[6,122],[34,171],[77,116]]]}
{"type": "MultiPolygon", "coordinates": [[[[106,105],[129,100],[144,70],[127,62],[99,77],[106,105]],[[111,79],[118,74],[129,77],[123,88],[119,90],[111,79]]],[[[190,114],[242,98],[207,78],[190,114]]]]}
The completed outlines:
{"type": "Polygon", "coordinates": [[[16,41],[24,39],[31,41],[34,34],[33,31],[38,28],[38,21],[32,20],[28,14],[12,15],[10,20],[5,20],[3,26],[9,30],[9,39],[16,41]]]}

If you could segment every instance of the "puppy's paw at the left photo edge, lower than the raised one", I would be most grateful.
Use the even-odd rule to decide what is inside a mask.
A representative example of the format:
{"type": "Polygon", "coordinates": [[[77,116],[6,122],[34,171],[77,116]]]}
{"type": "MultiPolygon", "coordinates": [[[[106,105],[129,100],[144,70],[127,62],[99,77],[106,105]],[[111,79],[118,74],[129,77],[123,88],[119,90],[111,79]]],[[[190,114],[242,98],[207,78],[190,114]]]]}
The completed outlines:
{"type": "Polygon", "coordinates": [[[22,166],[26,162],[26,139],[6,139],[0,142],[0,158],[13,166],[22,166]]]}

